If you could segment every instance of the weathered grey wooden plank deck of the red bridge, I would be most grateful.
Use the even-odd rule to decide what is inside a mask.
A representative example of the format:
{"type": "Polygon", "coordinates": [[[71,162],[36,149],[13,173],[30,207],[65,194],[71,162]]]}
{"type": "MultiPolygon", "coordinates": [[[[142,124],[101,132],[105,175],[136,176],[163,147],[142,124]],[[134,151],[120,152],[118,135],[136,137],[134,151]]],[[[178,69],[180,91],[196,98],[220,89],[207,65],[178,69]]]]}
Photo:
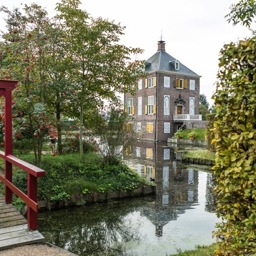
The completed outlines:
{"type": "Polygon", "coordinates": [[[0,195],[0,250],[43,242],[37,230],[29,231],[27,220],[0,195]]]}

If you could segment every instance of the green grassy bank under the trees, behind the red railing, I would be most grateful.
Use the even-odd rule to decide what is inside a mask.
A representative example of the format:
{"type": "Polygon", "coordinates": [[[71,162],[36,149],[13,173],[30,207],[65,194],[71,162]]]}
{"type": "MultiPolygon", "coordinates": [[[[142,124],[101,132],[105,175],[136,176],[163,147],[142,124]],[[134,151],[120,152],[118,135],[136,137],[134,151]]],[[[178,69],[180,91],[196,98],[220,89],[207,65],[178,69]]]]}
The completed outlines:
{"type": "MultiPolygon", "coordinates": [[[[33,154],[20,158],[36,165],[33,154]]],[[[3,161],[0,162],[0,167],[3,169],[3,161]]],[[[38,167],[45,170],[45,177],[38,178],[38,200],[65,201],[72,194],[128,191],[140,185],[152,185],[152,182],[123,163],[108,165],[94,152],[87,153],[83,161],[78,153],[43,155],[42,163],[38,167]]],[[[25,171],[14,167],[13,182],[21,191],[27,193],[25,171]]]]}

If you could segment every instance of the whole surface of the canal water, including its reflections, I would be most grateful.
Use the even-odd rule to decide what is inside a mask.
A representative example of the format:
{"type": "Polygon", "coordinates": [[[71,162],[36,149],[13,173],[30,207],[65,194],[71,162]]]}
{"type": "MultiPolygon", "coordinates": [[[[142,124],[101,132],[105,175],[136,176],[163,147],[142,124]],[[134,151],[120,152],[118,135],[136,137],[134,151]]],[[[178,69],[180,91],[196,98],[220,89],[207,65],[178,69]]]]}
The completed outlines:
{"type": "Polygon", "coordinates": [[[214,242],[215,179],[176,161],[165,143],[137,143],[124,161],[156,183],[156,194],[39,215],[47,242],[77,255],[172,255],[214,242]]]}

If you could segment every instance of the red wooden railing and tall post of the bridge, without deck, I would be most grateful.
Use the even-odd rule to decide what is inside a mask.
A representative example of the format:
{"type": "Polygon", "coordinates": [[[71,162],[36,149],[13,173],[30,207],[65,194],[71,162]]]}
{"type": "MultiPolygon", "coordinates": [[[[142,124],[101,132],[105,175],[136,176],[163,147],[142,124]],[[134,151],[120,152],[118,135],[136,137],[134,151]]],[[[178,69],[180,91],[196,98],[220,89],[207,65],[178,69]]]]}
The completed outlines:
{"type": "Polygon", "coordinates": [[[0,79],[0,96],[5,97],[5,152],[0,150],[0,157],[5,159],[5,176],[0,174],[0,180],[5,183],[5,202],[12,203],[14,192],[28,206],[28,228],[38,228],[38,181],[37,178],[45,176],[45,171],[12,156],[12,89],[16,88],[17,81],[0,79]],[[19,190],[12,183],[12,165],[27,172],[27,194],[19,190]]]}

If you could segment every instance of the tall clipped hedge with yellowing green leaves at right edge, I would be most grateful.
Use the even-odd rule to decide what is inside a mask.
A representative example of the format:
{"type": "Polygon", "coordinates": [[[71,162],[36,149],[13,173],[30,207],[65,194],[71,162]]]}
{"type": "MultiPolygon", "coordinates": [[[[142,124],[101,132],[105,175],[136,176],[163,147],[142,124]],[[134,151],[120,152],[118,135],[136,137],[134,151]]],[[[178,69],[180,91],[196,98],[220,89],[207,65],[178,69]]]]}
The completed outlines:
{"type": "Polygon", "coordinates": [[[217,255],[256,255],[256,37],[224,45],[215,93],[217,255]]]}

